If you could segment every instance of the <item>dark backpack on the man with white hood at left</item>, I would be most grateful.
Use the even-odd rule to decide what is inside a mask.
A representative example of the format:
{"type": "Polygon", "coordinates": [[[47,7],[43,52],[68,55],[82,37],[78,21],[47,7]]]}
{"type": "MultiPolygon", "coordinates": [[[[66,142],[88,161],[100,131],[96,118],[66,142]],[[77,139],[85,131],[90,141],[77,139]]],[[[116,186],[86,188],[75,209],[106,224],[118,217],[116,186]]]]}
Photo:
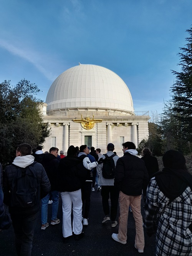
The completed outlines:
{"type": "Polygon", "coordinates": [[[17,166],[10,190],[12,207],[26,208],[40,203],[40,182],[33,167],[35,163],[25,168],[17,166]]]}

